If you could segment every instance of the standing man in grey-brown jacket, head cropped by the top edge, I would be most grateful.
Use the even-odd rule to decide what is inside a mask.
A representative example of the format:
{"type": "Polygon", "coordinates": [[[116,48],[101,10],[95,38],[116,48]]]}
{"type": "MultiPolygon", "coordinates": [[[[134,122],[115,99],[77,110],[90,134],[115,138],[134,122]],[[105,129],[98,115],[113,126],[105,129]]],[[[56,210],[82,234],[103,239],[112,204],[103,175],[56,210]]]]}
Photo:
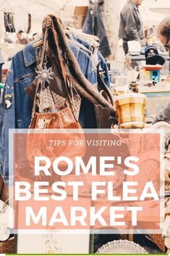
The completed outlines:
{"type": "Polygon", "coordinates": [[[128,41],[141,41],[144,38],[143,20],[138,7],[143,0],[128,0],[120,14],[119,38],[123,40],[124,53],[128,53],[128,41]]]}

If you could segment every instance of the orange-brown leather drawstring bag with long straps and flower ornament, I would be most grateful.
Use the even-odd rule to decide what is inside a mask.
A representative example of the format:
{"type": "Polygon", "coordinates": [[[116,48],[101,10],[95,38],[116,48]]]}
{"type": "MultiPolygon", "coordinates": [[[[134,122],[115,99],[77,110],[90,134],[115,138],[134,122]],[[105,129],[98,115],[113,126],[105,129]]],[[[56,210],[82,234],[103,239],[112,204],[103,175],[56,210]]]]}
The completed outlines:
{"type": "MultiPolygon", "coordinates": [[[[47,39],[47,30],[44,36],[43,41],[43,51],[42,51],[42,59],[41,59],[41,67],[43,65],[43,57],[44,51],[46,48],[46,39],[47,39]]],[[[83,157],[85,155],[85,136],[82,131],[80,123],[76,120],[72,98],[69,94],[69,81],[67,79],[67,75],[64,70],[64,63],[61,57],[61,52],[59,49],[59,44],[56,39],[56,49],[58,51],[59,63],[61,65],[62,75],[63,75],[63,86],[65,86],[67,91],[67,99],[69,105],[64,107],[63,109],[44,110],[44,112],[36,112],[36,101],[38,97],[38,91],[41,88],[41,81],[36,86],[35,98],[33,102],[33,111],[32,111],[32,120],[30,123],[30,130],[27,133],[27,160],[30,163],[32,168],[35,167],[35,156],[41,157],[49,157],[51,162],[59,156],[69,157],[72,162],[75,162],[75,157],[83,157]],[[40,130],[37,131],[37,129],[40,130]],[[57,129],[56,131],[49,132],[47,129],[57,129]],[[76,131],[69,132],[68,129],[76,129],[76,131]],[[54,144],[50,144],[51,140],[60,140],[64,141],[65,144],[59,144],[58,146],[54,146],[54,144]],[[81,141],[78,145],[69,145],[69,141],[81,141]]],[[[51,94],[52,96],[52,94],[51,94]]]]}

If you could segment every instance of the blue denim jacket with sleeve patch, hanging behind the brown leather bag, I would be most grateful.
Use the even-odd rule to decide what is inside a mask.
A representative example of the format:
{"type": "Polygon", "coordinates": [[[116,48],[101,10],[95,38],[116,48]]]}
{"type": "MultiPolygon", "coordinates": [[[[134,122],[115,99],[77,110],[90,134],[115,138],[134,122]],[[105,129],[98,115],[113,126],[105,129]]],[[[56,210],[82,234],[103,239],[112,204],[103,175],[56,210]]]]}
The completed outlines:
{"type": "MultiPolygon", "coordinates": [[[[97,74],[90,57],[76,46],[70,44],[82,73],[91,83],[97,83],[97,74]]],[[[35,78],[36,55],[32,44],[27,44],[22,51],[12,57],[12,64],[7,75],[6,85],[2,95],[0,119],[0,173],[4,183],[9,185],[9,128],[28,128],[31,120],[33,102],[24,89],[35,78]],[[12,100],[6,108],[5,96],[12,100]]],[[[83,120],[83,118],[82,118],[83,120]]],[[[20,154],[20,152],[19,152],[20,154]]],[[[22,159],[21,159],[22,161],[22,159]]],[[[24,167],[24,162],[22,165],[24,167]]]]}

